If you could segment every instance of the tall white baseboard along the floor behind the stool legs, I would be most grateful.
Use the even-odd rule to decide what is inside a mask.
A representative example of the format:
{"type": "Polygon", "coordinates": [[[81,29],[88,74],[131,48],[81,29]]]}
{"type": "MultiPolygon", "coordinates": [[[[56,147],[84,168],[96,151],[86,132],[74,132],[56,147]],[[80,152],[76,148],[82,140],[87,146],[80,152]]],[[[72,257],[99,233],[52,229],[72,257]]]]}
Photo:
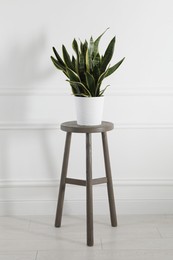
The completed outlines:
{"type": "MultiPolygon", "coordinates": [[[[173,180],[114,180],[117,214],[173,214],[173,180]]],[[[1,181],[0,215],[54,215],[57,180],[1,181]]],[[[68,185],[63,214],[85,215],[85,188],[68,185]]],[[[94,214],[109,214],[105,185],[94,187],[94,214]]]]}

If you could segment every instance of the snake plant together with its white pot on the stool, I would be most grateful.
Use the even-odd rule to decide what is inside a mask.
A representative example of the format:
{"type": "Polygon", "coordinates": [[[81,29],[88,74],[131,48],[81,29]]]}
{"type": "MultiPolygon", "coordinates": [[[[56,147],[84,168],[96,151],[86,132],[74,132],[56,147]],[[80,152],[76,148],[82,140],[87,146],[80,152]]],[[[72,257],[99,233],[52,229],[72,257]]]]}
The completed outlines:
{"type": "Polygon", "coordinates": [[[102,82],[115,72],[124,60],[123,58],[113,66],[109,64],[114,53],[115,37],[109,42],[104,55],[99,53],[99,42],[106,31],[96,40],[91,37],[89,42],[85,40],[78,43],[74,39],[72,47],[75,56],[72,57],[64,45],[62,58],[53,47],[55,57],[51,56],[51,60],[67,77],[76,99],[77,123],[80,125],[101,124],[104,92],[109,86],[102,88],[102,82]]]}

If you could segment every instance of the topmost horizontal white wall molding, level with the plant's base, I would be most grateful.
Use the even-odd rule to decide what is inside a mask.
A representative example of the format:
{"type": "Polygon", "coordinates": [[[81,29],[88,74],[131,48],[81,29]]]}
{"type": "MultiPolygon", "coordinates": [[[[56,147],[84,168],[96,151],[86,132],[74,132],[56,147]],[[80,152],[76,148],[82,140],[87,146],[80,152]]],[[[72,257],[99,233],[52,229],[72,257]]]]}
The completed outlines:
{"type": "MultiPolygon", "coordinates": [[[[70,91],[65,87],[5,87],[0,88],[0,96],[69,96],[70,91]]],[[[172,87],[153,89],[152,87],[124,88],[118,87],[116,90],[109,90],[106,96],[173,96],[172,87]]]]}

